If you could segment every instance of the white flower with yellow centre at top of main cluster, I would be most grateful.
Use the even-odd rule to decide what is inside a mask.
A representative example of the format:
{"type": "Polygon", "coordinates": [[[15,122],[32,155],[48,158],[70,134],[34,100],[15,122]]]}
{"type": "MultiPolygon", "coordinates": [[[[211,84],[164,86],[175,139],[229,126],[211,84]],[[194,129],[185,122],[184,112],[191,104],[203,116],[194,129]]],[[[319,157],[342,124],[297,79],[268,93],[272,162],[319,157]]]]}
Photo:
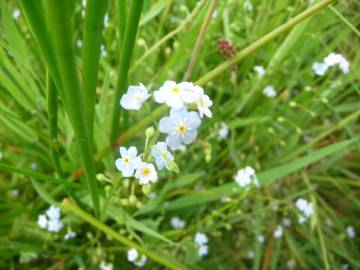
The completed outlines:
{"type": "Polygon", "coordinates": [[[194,93],[190,91],[192,83],[182,82],[177,84],[174,81],[166,81],[158,91],[154,92],[154,98],[157,103],[166,103],[173,109],[184,107],[185,103],[194,103],[194,93]]]}

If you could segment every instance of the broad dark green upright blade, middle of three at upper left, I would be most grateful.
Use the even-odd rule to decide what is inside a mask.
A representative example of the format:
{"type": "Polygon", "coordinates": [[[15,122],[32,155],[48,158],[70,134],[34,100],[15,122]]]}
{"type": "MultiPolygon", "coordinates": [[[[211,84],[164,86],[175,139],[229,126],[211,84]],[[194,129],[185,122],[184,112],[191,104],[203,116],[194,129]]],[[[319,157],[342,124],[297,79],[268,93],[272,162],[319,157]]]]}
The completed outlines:
{"type": "Polygon", "coordinates": [[[108,3],[109,0],[88,0],[86,3],[82,64],[85,115],[91,139],[93,137],[100,46],[104,26],[104,16],[108,3]]]}

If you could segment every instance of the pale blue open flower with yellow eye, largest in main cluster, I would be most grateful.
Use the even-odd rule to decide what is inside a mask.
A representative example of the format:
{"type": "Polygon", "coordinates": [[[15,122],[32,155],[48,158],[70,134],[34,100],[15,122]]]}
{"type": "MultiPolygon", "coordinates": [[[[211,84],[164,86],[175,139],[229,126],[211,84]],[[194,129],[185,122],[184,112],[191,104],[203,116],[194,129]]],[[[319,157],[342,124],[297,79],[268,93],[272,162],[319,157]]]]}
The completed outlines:
{"type": "Polygon", "coordinates": [[[170,110],[170,116],[163,117],[159,123],[162,133],[169,134],[166,144],[170,147],[192,143],[197,136],[197,128],[201,119],[197,112],[188,112],[185,108],[170,110]]]}

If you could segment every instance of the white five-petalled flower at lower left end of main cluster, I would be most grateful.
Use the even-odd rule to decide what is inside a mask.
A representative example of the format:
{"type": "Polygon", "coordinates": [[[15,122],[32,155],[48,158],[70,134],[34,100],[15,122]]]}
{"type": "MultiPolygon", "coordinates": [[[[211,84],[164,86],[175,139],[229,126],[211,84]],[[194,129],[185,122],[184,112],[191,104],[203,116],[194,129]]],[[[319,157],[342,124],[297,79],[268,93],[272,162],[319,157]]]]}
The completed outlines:
{"type": "Polygon", "coordinates": [[[134,170],[141,162],[141,158],[137,155],[135,146],[131,146],[128,150],[125,147],[120,147],[121,158],[115,161],[116,168],[121,171],[124,177],[130,177],[134,174],[134,170]]]}

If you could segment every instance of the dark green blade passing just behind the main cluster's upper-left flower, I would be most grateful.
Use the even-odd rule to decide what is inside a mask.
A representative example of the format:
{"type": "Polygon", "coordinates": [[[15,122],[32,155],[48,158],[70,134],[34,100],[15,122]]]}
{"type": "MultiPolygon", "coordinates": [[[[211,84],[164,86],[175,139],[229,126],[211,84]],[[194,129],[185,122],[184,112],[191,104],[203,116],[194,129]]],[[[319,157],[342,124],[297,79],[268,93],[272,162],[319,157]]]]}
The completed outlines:
{"type": "Polygon", "coordinates": [[[134,49],[136,33],[139,26],[143,0],[131,1],[130,13],[126,23],[125,36],[120,50],[119,77],[114,95],[113,114],[111,120],[110,141],[113,142],[118,134],[120,118],[120,96],[128,85],[128,72],[134,49]]]}

